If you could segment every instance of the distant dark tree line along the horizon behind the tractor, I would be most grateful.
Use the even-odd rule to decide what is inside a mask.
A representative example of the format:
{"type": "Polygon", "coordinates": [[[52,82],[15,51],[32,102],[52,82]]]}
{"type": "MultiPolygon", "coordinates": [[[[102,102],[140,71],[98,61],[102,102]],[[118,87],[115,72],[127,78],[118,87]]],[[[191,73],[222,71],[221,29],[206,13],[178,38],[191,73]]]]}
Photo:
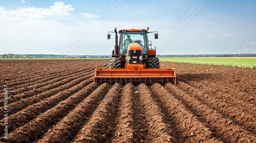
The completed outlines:
{"type": "MultiPolygon", "coordinates": [[[[210,54],[210,55],[156,55],[159,58],[177,58],[177,57],[256,57],[256,54],[210,54]]],[[[65,58],[111,58],[111,55],[47,55],[47,54],[4,54],[0,59],[65,59],[65,58]]]]}

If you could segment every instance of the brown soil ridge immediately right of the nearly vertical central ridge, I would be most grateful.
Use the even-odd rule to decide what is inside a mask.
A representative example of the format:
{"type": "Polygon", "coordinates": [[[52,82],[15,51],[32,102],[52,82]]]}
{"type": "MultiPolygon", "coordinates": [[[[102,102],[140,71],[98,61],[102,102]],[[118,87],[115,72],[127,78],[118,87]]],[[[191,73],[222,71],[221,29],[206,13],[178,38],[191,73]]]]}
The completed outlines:
{"type": "Polygon", "coordinates": [[[161,112],[158,101],[154,98],[150,88],[145,84],[137,86],[141,106],[145,109],[145,122],[148,124],[148,134],[145,142],[178,142],[174,136],[175,131],[170,128],[170,123],[161,112]]]}

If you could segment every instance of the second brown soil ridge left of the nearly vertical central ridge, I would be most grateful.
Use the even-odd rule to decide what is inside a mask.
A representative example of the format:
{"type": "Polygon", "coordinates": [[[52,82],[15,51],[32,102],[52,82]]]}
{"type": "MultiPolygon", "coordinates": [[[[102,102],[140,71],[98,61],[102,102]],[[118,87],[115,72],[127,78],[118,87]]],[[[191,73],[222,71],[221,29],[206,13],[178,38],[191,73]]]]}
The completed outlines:
{"type": "Polygon", "coordinates": [[[84,99],[77,107],[49,129],[38,142],[70,142],[73,137],[88,121],[88,117],[96,109],[98,103],[109,90],[109,84],[104,83],[95,89],[90,96],[84,99]]]}

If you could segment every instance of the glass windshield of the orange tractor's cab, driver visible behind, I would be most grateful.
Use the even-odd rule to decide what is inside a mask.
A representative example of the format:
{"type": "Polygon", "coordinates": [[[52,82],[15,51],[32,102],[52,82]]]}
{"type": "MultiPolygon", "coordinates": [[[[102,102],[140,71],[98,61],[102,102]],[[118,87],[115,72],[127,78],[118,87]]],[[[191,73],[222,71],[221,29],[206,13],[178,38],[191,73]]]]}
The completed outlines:
{"type": "Polygon", "coordinates": [[[145,32],[122,32],[120,37],[119,52],[120,54],[126,54],[127,47],[130,43],[136,42],[140,44],[142,48],[142,54],[147,53],[147,41],[145,32]]]}

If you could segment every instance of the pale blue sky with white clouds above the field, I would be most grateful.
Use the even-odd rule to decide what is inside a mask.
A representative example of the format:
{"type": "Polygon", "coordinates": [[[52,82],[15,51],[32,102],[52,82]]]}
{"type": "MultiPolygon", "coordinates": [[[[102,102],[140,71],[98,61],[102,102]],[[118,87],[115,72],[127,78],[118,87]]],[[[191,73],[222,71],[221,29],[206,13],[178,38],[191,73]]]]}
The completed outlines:
{"type": "Polygon", "coordinates": [[[157,54],[256,53],[256,1],[0,1],[0,54],[111,55],[117,29],[158,31],[157,54]]]}

